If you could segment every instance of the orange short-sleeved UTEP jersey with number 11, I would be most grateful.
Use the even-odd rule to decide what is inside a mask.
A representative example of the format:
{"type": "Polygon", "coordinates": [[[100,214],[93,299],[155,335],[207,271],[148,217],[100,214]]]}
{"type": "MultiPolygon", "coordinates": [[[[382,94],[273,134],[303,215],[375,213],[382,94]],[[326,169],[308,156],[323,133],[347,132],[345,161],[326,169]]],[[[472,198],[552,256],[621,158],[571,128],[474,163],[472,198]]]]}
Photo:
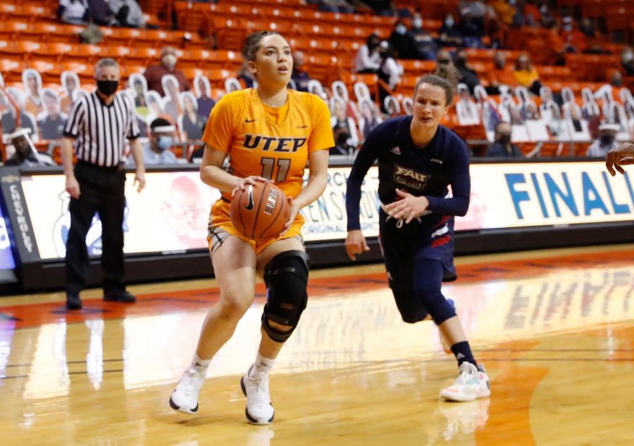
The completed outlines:
{"type": "MultiPolygon", "coordinates": [[[[284,106],[266,106],[256,89],[225,94],[211,110],[203,141],[229,155],[236,177],[273,179],[287,196],[302,190],[309,153],[335,146],[326,103],[288,90],[284,106]]],[[[223,194],[228,200],[230,192],[223,194]]]]}

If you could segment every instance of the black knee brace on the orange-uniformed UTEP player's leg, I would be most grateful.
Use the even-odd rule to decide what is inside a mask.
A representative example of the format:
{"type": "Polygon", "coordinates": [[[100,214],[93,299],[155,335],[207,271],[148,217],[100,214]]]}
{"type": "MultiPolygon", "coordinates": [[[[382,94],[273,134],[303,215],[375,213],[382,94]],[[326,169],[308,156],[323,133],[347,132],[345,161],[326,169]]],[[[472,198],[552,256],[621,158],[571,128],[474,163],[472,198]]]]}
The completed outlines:
{"type": "Polygon", "coordinates": [[[278,343],[285,342],[306,308],[306,284],[309,274],[309,256],[300,250],[275,255],[264,267],[267,299],[262,314],[262,326],[268,336],[278,343]],[[288,331],[275,329],[269,324],[290,326],[288,331]]]}

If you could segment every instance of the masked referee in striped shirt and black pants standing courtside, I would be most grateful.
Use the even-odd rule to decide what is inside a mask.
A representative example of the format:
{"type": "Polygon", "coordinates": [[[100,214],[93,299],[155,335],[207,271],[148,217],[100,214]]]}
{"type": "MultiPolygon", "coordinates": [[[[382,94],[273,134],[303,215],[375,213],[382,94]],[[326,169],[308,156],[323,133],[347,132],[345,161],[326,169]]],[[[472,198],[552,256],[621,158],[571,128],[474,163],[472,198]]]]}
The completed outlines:
{"type": "Polygon", "coordinates": [[[134,106],[117,95],[119,65],[99,60],[95,67],[97,91],[78,99],[71,108],[61,141],[66,191],[70,194],[70,230],[66,242],[66,308],[82,307],[80,291],[86,288],[89,257],[86,234],[94,213],[101,219],[101,267],[104,300],[132,303],[123,279],[123,209],[125,207],[125,138],[135,158],[137,191],[145,186],[145,167],[134,106]],[[77,164],[73,169],[73,144],[77,164]]]}

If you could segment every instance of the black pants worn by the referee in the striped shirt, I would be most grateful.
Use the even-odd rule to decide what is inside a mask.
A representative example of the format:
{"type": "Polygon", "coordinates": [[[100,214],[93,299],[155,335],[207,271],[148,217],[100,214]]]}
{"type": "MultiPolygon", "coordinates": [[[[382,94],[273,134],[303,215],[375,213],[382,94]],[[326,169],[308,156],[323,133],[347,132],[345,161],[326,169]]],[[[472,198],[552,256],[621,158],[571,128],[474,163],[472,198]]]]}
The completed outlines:
{"type": "Polygon", "coordinates": [[[79,294],[89,274],[86,234],[95,212],[101,219],[101,267],[104,293],[125,291],[123,281],[123,167],[99,167],[83,161],[75,165],[79,198],[70,198],[70,229],[66,242],[66,293],[79,294]]]}

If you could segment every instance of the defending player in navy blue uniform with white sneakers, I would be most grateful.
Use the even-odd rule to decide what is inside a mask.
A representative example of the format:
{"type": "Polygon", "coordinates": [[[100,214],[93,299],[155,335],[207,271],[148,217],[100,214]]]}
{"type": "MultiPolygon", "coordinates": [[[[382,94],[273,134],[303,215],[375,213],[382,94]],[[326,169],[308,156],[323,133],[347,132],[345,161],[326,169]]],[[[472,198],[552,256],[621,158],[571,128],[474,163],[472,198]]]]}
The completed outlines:
{"type": "Polygon", "coordinates": [[[346,250],[368,250],[359,230],[361,183],[378,158],[382,202],[380,244],[387,279],[404,321],[414,324],[428,314],[458,360],[459,377],[440,395],[469,401],[490,395],[489,380],[473,358],[454,307],[440,292],[442,281],[456,279],[454,215],[469,205],[469,156],[466,146],[440,120],[454,91],[446,70],[418,80],[414,114],[387,120],[373,129],[359,151],[347,184],[346,250]],[[447,198],[447,186],[452,198],[447,198]]]}

